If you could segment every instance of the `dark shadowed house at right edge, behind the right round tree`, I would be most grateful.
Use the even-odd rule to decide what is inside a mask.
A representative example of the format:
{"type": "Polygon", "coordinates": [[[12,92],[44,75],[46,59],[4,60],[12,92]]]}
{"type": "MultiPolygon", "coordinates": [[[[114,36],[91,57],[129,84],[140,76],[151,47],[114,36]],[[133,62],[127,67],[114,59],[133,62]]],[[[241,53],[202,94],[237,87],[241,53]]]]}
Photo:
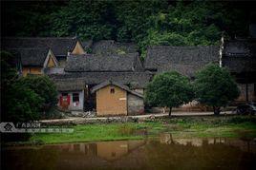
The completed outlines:
{"type": "Polygon", "coordinates": [[[237,103],[256,101],[256,39],[233,39],[224,42],[222,66],[236,79],[241,94],[237,103]]]}

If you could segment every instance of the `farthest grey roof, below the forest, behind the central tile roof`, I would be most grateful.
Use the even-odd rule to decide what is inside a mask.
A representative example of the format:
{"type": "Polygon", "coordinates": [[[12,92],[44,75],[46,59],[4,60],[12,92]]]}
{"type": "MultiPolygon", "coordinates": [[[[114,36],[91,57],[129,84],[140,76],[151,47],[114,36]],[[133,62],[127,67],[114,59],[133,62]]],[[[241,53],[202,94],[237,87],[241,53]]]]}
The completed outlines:
{"type": "Polygon", "coordinates": [[[114,40],[98,41],[94,43],[92,49],[94,54],[120,54],[139,51],[139,47],[134,43],[119,43],[114,40]]]}

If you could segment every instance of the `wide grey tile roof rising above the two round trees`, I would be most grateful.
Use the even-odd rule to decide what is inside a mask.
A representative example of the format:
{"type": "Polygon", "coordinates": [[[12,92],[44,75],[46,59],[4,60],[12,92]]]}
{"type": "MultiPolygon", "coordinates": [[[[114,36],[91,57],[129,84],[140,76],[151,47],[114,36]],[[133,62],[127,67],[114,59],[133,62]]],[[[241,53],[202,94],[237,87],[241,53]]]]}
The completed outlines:
{"type": "Polygon", "coordinates": [[[162,71],[176,70],[193,76],[208,63],[219,63],[220,47],[149,47],[144,62],[145,69],[162,71]]]}

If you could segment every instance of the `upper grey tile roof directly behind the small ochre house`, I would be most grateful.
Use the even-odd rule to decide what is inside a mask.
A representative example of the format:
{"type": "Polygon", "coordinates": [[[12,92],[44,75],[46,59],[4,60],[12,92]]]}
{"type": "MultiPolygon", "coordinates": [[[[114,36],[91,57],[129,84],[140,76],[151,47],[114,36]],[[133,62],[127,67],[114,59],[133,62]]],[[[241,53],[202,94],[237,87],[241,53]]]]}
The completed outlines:
{"type": "Polygon", "coordinates": [[[139,53],[123,55],[70,55],[67,58],[65,71],[67,72],[119,72],[142,71],[139,53]]]}

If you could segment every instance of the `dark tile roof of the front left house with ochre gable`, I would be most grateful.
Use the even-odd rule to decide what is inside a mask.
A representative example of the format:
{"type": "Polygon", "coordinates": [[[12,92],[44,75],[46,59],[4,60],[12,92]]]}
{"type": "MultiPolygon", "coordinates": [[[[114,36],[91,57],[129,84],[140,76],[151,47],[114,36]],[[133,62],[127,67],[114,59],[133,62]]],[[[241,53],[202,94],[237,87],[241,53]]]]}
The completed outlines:
{"type": "Polygon", "coordinates": [[[48,47],[12,48],[11,53],[21,59],[22,66],[44,66],[48,47]]]}

